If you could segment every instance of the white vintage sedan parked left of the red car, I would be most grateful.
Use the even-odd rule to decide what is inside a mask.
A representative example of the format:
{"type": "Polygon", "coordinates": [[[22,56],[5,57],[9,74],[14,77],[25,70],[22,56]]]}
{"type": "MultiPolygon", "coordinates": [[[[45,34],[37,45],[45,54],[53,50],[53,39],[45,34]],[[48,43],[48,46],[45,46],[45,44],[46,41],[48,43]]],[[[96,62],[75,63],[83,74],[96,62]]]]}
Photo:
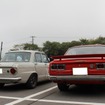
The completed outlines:
{"type": "Polygon", "coordinates": [[[7,83],[25,83],[27,88],[35,88],[37,82],[48,80],[48,65],[44,52],[9,51],[0,62],[0,87],[7,83]]]}

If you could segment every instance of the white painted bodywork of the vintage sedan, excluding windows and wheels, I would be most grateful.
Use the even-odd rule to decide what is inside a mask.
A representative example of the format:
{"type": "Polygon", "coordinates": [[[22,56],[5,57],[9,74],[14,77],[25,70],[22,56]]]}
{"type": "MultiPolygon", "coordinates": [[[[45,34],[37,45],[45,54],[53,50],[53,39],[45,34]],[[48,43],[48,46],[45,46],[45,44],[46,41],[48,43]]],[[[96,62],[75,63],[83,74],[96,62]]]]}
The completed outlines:
{"type": "MultiPolygon", "coordinates": [[[[38,75],[38,81],[48,80],[48,62],[35,62],[34,55],[44,54],[40,51],[22,50],[10,52],[28,52],[30,54],[29,62],[0,62],[0,83],[26,83],[31,74],[38,75]],[[16,73],[11,74],[10,68],[15,68],[16,73]]],[[[9,53],[10,53],[9,52],[9,53]]],[[[45,55],[45,54],[44,54],[45,55]]]]}

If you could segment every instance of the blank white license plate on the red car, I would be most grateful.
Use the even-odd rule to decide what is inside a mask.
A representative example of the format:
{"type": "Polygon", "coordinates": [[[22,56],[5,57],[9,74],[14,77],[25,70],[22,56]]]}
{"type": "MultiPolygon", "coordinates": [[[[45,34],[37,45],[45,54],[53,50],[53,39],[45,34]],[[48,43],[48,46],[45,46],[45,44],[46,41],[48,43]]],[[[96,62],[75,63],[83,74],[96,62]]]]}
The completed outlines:
{"type": "Polygon", "coordinates": [[[73,75],[88,75],[88,69],[85,68],[73,68],[73,75]]]}

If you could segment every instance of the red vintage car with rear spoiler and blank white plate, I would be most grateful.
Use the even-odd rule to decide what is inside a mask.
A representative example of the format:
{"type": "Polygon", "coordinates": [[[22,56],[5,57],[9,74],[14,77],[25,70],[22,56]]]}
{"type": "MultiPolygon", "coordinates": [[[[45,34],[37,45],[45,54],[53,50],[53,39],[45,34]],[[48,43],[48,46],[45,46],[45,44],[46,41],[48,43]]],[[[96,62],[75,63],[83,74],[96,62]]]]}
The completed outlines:
{"type": "Polygon", "coordinates": [[[105,84],[105,45],[81,45],[69,48],[63,56],[53,56],[50,80],[61,91],[71,84],[105,84]]]}

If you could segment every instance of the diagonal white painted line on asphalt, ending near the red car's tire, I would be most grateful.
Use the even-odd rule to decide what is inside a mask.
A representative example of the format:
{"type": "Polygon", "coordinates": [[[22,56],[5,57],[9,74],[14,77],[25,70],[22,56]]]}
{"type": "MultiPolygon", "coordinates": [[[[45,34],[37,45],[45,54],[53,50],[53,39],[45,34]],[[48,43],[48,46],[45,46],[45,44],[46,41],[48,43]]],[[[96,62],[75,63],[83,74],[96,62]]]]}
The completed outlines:
{"type": "MultiPolygon", "coordinates": [[[[8,104],[5,104],[5,105],[15,105],[15,104],[18,104],[18,103],[20,103],[20,102],[22,102],[22,101],[24,101],[24,100],[28,100],[28,99],[30,99],[30,98],[32,98],[32,97],[41,95],[41,94],[46,93],[46,92],[48,92],[48,91],[51,91],[51,90],[53,90],[53,89],[55,89],[55,88],[57,88],[57,86],[54,86],[54,87],[52,87],[52,88],[43,90],[43,91],[41,91],[41,92],[38,92],[38,93],[35,93],[35,94],[32,94],[32,95],[29,95],[29,96],[24,97],[24,98],[21,98],[21,99],[18,99],[18,100],[16,100],[16,101],[13,101],[13,102],[8,103],[8,104]]],[[[37,101],[37,100],[36,100],[36,101],[37,101]]]]}

